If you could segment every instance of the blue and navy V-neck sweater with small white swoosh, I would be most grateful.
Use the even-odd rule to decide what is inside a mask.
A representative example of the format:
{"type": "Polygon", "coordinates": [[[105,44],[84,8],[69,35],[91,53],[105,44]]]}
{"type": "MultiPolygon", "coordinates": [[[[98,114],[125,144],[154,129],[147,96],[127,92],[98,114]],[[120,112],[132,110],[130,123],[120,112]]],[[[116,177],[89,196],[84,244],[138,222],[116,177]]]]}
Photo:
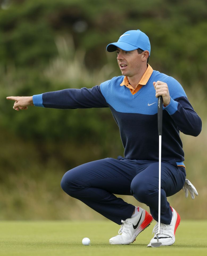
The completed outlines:
{"type": "Polygon", "coordinates": [[[180,83],[153,70],[146,85],[133,95],[126,86],[120,86],[123,79],[124,76],[114,77],[91,89],[65,89],[33,95],[33,104],[56,109],[109,107],[120,129],[124,157],[158,161],[158,99],[153,82],[165,82],[171,100],[168,106],[163,106],[162,161],[175,159],[177,165],[184,165],[179,131],[197,136],[201,132],[201,119],[180,83]]]}

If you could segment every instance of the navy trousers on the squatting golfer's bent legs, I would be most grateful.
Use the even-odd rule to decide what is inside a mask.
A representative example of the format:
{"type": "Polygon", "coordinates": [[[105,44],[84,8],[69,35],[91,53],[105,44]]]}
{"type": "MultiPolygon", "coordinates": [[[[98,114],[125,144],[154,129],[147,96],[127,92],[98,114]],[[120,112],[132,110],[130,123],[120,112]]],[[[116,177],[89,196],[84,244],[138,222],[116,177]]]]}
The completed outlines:
{"type": "MultiPolygon", "coordinates": [[[[185,168],[175,160],[161,164],[161,213],[160,221],[170,224],[172,211],[167,198],[182,189],[185,168]]],[[[144,160],[105,158],[85,163],[67,171],[61,181],[62,189],[71,197],[121,224],[130,218],[134,206],[116,197],[133,195],[137,201],[150,208],[152,217],[158,221],[159,163],[144,160]]]]}

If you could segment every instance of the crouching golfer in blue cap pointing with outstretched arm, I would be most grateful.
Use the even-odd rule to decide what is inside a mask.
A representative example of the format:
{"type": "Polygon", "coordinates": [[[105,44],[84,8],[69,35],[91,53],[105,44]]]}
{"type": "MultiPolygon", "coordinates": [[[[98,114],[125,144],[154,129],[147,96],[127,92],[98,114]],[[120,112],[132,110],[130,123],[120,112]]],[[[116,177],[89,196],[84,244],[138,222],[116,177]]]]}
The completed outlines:
{"type": "MultiPolygon", "coordinates": [[[[121,76],[91,89],[65,89],[7,99],[15,101],[13,108],[18,111],[26,110],[29,105],[57,109],[111,109],[120,129],[124,157],[101,159],[75,167],[64,174],[61,187],[71,197],[121,225],[118,235],[109,239],[110,244],[121,245],[134,242],[153,219],[158,221],[157,98],[161,95],[163,129],[159,242],[163,246],[172,245],[180,215],[170,206],[167,197],[183,188],[186,177],[179,132],[197,136],[201,132],[201,119],[180,83],[153,70],[148,64],[150,41],[145,33],[127,31],[120,35],[117,42],[110,43],[107,51],[116,51],[121,76]],[[149,206],[150,214],[114,194],[133,195],[138,202],[149,206]]],[[[158,223],[148,247],[157,241],[157,230],[158,223]]]]}

